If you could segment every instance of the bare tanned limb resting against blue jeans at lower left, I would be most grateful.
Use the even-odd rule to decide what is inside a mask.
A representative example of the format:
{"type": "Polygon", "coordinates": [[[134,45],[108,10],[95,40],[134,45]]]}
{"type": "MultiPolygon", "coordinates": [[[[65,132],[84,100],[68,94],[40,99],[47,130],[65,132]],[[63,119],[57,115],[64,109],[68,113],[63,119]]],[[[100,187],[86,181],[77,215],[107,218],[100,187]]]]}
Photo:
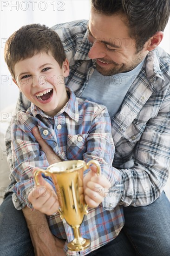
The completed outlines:
{"type": "Polygon", "coordinates": [[[22,209],[30,231],[35,256],[65,256],[63,246],[65,240],[52,235],[46,216],[35,210],[25,207],[22,209]]]}

